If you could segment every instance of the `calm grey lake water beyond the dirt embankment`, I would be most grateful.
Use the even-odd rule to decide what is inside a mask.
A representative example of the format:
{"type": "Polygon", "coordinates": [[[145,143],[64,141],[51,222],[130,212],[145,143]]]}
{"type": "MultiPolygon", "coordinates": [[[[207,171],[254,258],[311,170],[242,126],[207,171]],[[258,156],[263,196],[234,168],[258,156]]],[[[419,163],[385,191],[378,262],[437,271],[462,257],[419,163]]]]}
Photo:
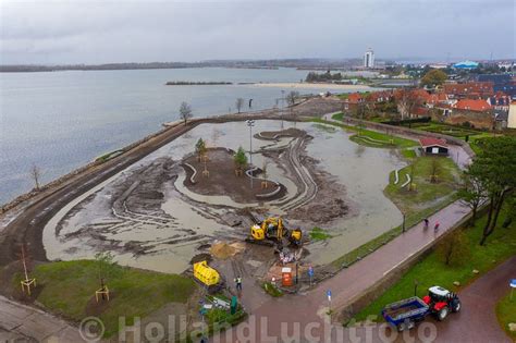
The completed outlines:
{"type": "Polygon", "coordinates": [[[307,73],[209,68],[0,74],[0,204],[33,187],[33,163],[49,182],[176,120],[182,101],[192,105],[194,115],[206,117],[234,110],[238,97],[253,98],[254,110],[270,108],[282,90],[164,86],[168,81],[298,82],[307,73]]]}

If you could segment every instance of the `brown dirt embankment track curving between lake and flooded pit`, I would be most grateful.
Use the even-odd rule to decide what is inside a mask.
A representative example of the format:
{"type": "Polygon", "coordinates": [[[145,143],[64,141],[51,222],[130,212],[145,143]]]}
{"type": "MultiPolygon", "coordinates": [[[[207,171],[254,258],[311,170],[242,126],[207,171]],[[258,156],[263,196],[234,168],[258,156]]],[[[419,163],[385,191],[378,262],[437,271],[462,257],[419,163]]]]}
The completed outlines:
{"type": "MultiPolygon", "coordinates": [[[[296,117],[303,113],[309,115],[322,115],[328,112],[337,111],[342,102],[315,98],[297,105],[292,114],[296,117]]],[[[185,134],[196,125],[204,122],[243,121],[247,119],[278,119],[277,110],[265,110],[258,113],[241,113],[224,118],[209,118],[194,120],[187,125],[176,125],[162,132],[144,138],[138,145],[131,145],[123,149],[123,154],[103,163],[95,164],[86,169],[72,171],[60,177],[50,186],[44,187],[41,192],[24,195],[2,206],[0,211],[0,266],[4,266],[17,259],[20,244],[30,246],[32,255],[37,260],[47,260],[42,246],[42,230],[46,223],[69,201],[78,195],[95,187],[97,184],[114,175],[119,171],[140,160],[143,157],[155,151],[159,147],[185,134]]]]}

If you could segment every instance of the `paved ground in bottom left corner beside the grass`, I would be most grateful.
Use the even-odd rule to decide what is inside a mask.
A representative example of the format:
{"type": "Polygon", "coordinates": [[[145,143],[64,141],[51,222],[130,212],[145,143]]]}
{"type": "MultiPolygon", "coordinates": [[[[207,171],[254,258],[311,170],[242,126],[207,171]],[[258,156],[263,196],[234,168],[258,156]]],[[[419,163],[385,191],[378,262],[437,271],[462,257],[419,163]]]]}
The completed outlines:
{"type": "Polygon", "coordinates": [[[77,328],[52,315],[0,296],[0,342],[81,343],[77,328]]]}

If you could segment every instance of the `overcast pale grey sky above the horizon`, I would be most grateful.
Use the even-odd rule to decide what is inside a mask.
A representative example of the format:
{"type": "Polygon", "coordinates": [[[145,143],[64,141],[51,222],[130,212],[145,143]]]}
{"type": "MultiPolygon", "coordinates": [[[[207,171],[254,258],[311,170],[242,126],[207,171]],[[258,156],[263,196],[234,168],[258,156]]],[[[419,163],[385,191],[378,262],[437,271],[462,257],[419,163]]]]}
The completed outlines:
{"type": "Polygon", "coordinates": [[[0,0],[0,63],[515,58],[514,0],[0,0]]]}

